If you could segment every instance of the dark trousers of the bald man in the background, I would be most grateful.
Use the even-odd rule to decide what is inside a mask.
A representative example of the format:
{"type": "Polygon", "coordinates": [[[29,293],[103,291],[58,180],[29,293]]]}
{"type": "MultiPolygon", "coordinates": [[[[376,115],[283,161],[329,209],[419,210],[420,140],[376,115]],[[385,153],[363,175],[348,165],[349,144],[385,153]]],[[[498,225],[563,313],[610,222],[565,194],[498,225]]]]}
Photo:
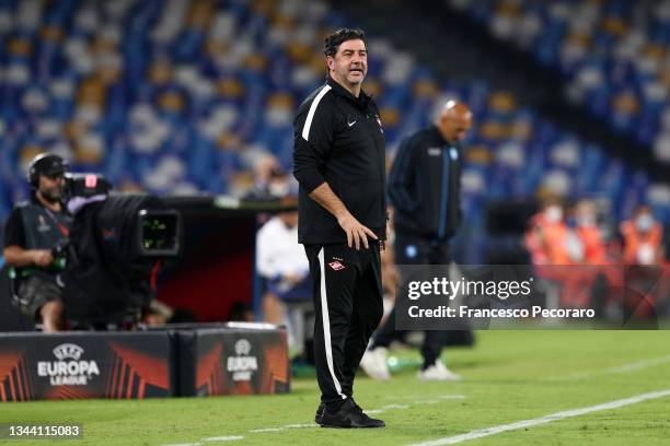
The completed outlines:
{"type": "MultiPolygon", "coordinates": [[[[448,240],[430,240],[413,234],[395,232],[395,262],[397,265],[449,265],[451,256],[449,254],[448,240]]],[[[394,340],[402,340],[406,331],[395,329],[395,306],[386,318],[386,321],[374,333],[372,348],[391,345],[394,340]]],[[[426,330],[424,344],[421,345],[421,356],[424,357],[423,368],[432,365],[448,341],[450,333],[441,330],[426,330]]]]}

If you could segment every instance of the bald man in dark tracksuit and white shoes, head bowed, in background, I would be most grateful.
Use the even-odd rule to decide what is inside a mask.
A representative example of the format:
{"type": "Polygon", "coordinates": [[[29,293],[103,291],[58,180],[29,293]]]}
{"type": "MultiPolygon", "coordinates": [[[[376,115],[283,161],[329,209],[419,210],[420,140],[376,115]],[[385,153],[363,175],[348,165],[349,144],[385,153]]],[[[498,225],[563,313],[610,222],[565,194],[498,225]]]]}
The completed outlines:
{"type": "MultiPolygon", "coordinates": [[[[461,222],[461,141],[471,126],[470,108],[449,101],[435,126],[414,133],[401,144],[389,179],[397,265],[450,263],[449,238],[461,222]]],[[[371,377],[390,378],[385,353],[398,334],[394,308],[361,362],[371,377]]],[[[460,379],[439,359],[447,336],[443,331],[426,330],[419,379],[460,379]]]]}

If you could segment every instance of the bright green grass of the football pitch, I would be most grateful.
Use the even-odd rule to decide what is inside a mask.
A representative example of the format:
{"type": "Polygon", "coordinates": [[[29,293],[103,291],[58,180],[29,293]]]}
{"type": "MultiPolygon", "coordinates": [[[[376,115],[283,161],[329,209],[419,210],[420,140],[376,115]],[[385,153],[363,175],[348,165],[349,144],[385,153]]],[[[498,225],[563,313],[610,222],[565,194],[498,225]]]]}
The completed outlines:
{"type": "MultiPolygon", "coordinates": [[[[394,351],[418,359],[415,351],[394,351]]],[[[356,398],[383,430],[313,423],[314,379],[286,396],[145,401],[44,401],[0,406],[0,423],[79,423],[84,437],[58,445],[406,445],[670,389],[668,331],[482,331],[474,349],[443,356],[461,383],[419,383],[405,369],[389,383],[357,379],[356,398]],[[287,425],[301,425],[286,427],[287,425]],[[282,429],[284,427],[284,429],[282,429]],[[252,432],[254,430],[274,431],[252,432]],[[218,442],[204,441],[211,437],[218,442]]],[[[670,397],[504,432],[463,445],[668,445],[670,397]]],[[[0,442],[3,444],[4,442],[0,442]]],[[[18,444],[46,445],[48,441],[18,444]]]]}

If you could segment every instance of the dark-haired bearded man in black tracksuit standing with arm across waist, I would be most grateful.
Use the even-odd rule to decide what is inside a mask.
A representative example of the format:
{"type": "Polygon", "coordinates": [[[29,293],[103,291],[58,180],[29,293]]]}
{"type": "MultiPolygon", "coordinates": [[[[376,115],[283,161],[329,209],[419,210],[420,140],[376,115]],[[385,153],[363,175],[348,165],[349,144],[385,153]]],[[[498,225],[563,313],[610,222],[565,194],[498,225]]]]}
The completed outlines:
{"type": "Polygon", "coordinates": [[[382,427],[353,399],[354,376],[383,313],[380,247],[385,240],[385,143],[379,111],[360,86],[363,34],[325,40],[326,83],[298,109],[293,174],[300,184],[299,242],[312,274],[314,359],[324,427],[382,427]]]}

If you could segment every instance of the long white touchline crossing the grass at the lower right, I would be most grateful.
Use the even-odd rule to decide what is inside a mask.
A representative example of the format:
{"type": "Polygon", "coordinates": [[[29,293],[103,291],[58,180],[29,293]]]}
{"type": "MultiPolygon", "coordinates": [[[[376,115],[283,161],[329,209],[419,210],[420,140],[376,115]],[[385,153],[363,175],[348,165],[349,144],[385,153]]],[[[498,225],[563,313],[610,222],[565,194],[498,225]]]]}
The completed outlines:
{"type": "Polygon", "coordinates": [[[558,421],[566,418],[579,416],[586,413],[598,412],[601,410],[616,409],[624,406],[635,404],[636,402],[670,397],[670,389],[651,391],[649,394],[636,395],[631,398],[624,398],[615,401],[604,402],[602,404],[589,406],[587,408],[566,410],[563,412],[552,413],[542,418],[517,421],[509,424],[500,424],[498,426],[477,429],[466,434],[455,435],[450,437],[443,437],[438,439],[431,439],[424,443],[415,443],[411,446],[440,446],[440,445],[453,445],[455,443],[466,442],[469,439],[482,438],[490,435],[496,435],[507,431],[516,431],[518,429],[535,426],[538,424],[551,423],[552,421],[558,421]]]}

